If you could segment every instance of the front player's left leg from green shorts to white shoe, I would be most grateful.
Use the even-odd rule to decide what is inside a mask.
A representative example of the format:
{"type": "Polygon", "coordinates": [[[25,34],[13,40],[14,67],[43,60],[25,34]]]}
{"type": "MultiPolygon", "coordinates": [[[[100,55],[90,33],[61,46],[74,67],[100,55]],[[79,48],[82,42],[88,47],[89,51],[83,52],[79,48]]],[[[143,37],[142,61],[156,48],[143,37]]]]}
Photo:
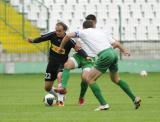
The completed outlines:
{"type": "Polygon", "coordinates": [[[101,95],[101,91],[97,88],[97,84],[95,84],[95,80],[101,76],[102,73],[105,73],[109,66],[113,63],[115,58],[114,50],[113,49],[106,49],[103,50],[98,54],[98,59],[95,62],[95,68],[92,69],[89,73],[87,82],[89,82],[89,86],[92,89],[94,95],[99,100],[101,106],[98,107],[96,110],[104,110],[109,108],[109,105],[104,100],[103,96],[101,95]],[[105,107],[103,105],[106,105],[105,107]]]}

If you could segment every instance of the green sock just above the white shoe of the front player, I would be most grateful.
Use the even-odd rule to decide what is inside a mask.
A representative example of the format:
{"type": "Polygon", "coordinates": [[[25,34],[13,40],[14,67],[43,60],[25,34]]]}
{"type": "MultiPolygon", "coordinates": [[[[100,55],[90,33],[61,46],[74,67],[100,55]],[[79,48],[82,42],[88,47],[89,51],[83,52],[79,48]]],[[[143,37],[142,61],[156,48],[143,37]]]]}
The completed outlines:
{"type": "Polygon", "coordinates": [[[98,85],[96,83],[90,84],[89,85],[93,94],[96,96],[96,98],[98,99],[98,101],[100,102],[101,105],[106,105],[106,101],[103,98],[102,94],[101,94],[101,90],[98,87],[98,85]]]}

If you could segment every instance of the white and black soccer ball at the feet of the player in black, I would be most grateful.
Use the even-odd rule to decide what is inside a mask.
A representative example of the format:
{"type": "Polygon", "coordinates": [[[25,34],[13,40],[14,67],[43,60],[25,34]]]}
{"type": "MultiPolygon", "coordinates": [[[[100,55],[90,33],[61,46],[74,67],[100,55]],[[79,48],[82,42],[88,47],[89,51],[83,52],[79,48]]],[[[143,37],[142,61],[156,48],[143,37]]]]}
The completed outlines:
{"type": "Polygon", "coordinates": [[[47,94],[44,97],[44,104],[46,106],[52,106],[55,105],[57,103],[57,99],[53,94],[47,94]]]}

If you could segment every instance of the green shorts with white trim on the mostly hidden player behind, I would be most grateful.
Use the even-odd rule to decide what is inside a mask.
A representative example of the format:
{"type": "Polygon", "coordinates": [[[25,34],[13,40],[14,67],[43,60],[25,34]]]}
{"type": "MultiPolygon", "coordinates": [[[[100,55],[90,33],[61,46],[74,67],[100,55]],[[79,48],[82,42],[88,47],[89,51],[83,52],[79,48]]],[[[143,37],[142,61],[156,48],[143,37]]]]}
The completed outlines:
{"type": "Polygon", "coordinates": [[[70,57],[70,59],[74,62],[75,68],[82,68],[82,70],[84,70],[87,68],[91,69],[94,66],[94,62],[93,62],[94,58],[92,61],[90,61],[90,60],[85,59],[78,53],[73,54],[73,56],[70,57]]]}

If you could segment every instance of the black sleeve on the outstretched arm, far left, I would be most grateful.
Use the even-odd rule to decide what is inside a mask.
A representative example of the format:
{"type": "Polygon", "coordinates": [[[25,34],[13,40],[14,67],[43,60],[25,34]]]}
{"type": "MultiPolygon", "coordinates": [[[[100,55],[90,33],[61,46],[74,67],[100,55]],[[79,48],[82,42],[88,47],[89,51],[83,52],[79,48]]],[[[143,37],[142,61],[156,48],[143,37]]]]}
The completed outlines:
{"type": "Polygon", "coordinates": [[[33,43],[40,43],[40,42],[48,41],[48,40],[51,39],[51,37],[53,36],[53,34],[54,34],[54,32],[41,35],[40,37],[35,38],[33,40],[33,43]]]}

